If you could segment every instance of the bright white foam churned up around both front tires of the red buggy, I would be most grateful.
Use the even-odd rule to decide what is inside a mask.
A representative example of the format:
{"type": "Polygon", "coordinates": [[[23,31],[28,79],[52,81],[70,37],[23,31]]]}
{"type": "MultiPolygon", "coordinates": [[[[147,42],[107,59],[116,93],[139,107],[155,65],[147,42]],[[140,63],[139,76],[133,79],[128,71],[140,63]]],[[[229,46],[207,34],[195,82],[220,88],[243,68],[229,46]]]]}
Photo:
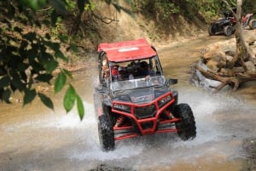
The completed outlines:
{"type": "MultiPolygon", "coordinates": [[[[246,106],[240,100],[225,97],[224,95],[183,92],[185,94],[180,95],[179,101],[188,103],[195,116],[197,135],[194,140],[183,141],[179,139],[177,134],[172,133],[153,134],[116,141],[114,151],[103,152],[98,140],[94,105],[85,101],[83,121],[80,121],[74,107],[73,111],[68,114],[41,118],[33,122],[21,123],[15,127],[55,128],[63,130],[65,133],[66,131],[73,131],[70,134],[71,137],[67,137],[67,139],[71,139],[68,141],[70,141],[72,148],[65,149],[63,156],[70,160],[83,162],[109,160],[112,162],[119,160],[131,162],[133,159],[136,160],[137,165],[141,163],[147,165],[147,163],[153,163],[155,160],[161,163],[172,163],[176,161],[177,157],[190,161],[191,157],[202,157],[207,153],[224,157],[236,156],[237,148],[234,146],[215,146],[224,140],[228,140],[234,134],[230,130],[226,131],[221,128],[221,124],[224,123],[223,121],[218,121],[216,116],[225,110],[236,110],[236,108],[243,110],[246,106]],[[209,145],[209,148],[206,148],[207,145],[209,145]]],[[[57,131],[56,134],[58,133],[57,131]]]]}

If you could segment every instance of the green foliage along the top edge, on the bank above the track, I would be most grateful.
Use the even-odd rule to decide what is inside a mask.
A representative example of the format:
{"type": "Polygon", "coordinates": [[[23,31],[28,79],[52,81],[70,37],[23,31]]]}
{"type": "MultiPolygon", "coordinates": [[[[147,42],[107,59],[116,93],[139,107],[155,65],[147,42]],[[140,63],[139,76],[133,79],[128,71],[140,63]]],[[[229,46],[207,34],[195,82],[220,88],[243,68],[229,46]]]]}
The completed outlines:
{"type": "MultiPolygon", "coordinates": [[[[236,0],[226,1],[230,6],[236,6],[236,0]]],[[[210,22],[218,16],[219,11],[227,9],[226,3],[222,0],[141,0],[136,1],[135,6],[137,8],[134,11],[156,20],[158,25],[164,28],[166,28],[165,23],[177,14],[183,15],[184,19],[189,22],[198,19],[210,22]]]]}

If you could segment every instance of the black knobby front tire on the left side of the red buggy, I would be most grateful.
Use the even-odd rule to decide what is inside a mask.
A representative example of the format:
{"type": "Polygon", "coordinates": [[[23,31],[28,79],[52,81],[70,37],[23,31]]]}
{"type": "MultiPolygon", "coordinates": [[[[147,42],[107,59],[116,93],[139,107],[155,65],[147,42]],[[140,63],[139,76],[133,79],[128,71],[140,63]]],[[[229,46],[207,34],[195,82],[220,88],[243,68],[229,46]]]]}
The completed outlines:
{"type": "Polygon", "coordinates": [[[108,114],[103,114],[98,117],[98,133],[102,151],[113,151],[115,145],[113,124],[108,114]]]}

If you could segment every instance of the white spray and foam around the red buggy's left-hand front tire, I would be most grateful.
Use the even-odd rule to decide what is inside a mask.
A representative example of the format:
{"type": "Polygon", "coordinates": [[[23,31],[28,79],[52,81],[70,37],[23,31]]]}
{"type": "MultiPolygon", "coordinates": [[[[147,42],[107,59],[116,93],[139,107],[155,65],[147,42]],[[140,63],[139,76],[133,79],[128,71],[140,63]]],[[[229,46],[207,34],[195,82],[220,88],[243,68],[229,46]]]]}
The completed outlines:
{"type": "MultiPolygon", "coordinates": [[[[84,134],[83,149],[74,149],[74,151],[67,151],[67,157],[75,160],[114,160],[121,159],[131,156],[138,155],[143,151],[143,145],[133,145],[133,144],[123,144],[118,146],[114,151],[104,152],[100,148],[98,133],[97,133],[97,123],[94,111],[94,105],[88,103],[85,104],[85,117],[82,122],[77,123],[77,119],[74,119],[74,125],[79,125],[86,134],[84,134]],[[131,150],[132,149],[132,150],[131,150]],[[125,152],[124,152],[125,151],[125,152]]],[[[77,115],[77,114],[75,114],[77,115]]],[[[75,117],[74,115],[72,115],[75,117]]],[[[60,121],[60,125],[68,126],[70,119],[69,117],[63,118],[60,121]]]]}

